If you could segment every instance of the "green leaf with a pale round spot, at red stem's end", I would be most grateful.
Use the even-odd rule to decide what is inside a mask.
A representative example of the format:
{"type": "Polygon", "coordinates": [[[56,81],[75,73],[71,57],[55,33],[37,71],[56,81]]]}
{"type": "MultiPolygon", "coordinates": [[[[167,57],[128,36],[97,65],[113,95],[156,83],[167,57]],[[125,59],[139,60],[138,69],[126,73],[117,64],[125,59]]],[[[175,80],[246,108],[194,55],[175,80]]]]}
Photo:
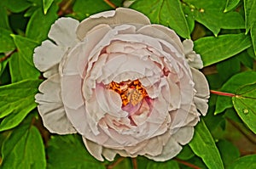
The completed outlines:
{"type": "Polygon", "coordinates": [[[256,133],[256,83],[240,87],[232,101],[241,120],[256,133]]]}

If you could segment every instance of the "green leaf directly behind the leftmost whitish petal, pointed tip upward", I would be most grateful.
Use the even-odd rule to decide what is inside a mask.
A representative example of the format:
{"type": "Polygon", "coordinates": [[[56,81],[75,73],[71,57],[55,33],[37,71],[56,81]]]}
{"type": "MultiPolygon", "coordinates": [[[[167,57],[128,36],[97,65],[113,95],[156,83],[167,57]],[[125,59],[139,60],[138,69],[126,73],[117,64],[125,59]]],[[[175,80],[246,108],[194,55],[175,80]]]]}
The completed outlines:
{"type": "Polygon", "coordinates": [[[9,69],[12,82],[19,82],[24,79],[38,79],[40,72],[33,64],[33,51],[38,46],[37,42],[26,37],[12,35],[18,53],[11,56],[9,60],[9,69]]]}

